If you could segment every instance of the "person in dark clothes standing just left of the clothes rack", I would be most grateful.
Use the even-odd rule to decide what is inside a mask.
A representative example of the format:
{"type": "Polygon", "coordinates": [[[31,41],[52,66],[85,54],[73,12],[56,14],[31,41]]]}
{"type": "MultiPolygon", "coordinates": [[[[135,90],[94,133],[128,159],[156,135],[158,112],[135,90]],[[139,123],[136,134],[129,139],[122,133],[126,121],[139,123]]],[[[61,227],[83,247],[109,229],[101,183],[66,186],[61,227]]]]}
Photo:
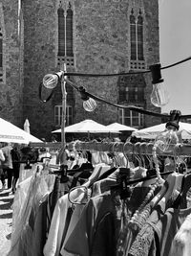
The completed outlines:
{"type": "Polygon", "coordinates": [[[19,145],[17,143],[13,145],[13,149],[11,150],[11,158],[12,158],[12,175],[13,175],[11,193],[14,194],[16,191],[16,183],[19,178],[20,161],[21,161],[21,153],[19,151],[19,145]]]}

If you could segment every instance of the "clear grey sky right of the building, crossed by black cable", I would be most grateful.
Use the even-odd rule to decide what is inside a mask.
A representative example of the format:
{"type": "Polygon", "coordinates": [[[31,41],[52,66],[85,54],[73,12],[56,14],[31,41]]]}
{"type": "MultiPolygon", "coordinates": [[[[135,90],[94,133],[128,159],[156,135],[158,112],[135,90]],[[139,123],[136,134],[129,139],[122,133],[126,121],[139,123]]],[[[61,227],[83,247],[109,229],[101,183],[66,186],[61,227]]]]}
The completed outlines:
{"type": "MultiPolygon", "coordinates": [[[[191,57],[191,0],[159,0],[161,66],[191,57]]],[[[178,109],[191,114],[191,60],[161,70],[170,101],[162,112],[178,109]]]]}

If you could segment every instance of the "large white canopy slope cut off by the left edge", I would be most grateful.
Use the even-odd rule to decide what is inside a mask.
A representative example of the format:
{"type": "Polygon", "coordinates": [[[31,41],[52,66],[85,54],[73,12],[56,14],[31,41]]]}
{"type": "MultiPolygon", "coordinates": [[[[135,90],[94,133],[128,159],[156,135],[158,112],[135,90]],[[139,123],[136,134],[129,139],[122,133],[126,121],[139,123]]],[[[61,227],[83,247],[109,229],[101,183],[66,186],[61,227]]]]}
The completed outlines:
{"type": "Polygon", "coordinates": [[[0,118],[0,142],[12,142],[19,144],[29,144],[30,142],[42,142],[32,134],[21,128],[17,128],[10,122],[0,118]]]}

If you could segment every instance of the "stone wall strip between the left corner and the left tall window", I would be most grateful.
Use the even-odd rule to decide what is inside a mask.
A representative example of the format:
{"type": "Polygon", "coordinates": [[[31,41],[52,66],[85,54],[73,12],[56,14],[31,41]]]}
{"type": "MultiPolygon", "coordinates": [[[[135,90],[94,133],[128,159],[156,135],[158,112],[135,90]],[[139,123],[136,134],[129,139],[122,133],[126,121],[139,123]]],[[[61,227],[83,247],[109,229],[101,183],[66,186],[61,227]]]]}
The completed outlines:
{"type": "MultiPolygon", "coordinates": [[[[53,130],[52,102],[43,104],[38,86],[44,75],[55,71],[56,11],[53,0],[24,2],[24,117],[31,123],[33,135],[47,137],[53,130]]],[[[43,91],[46,99],[50,91],[43,91]]]]}

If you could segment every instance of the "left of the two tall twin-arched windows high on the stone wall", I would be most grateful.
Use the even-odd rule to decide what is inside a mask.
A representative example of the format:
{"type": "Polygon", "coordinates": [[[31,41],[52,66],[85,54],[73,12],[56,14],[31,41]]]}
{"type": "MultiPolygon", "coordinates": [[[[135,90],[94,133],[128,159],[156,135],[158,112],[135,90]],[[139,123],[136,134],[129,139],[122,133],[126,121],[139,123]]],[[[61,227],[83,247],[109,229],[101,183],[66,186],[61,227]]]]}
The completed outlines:
{"type": "Polygon", "coordinates": [[[73,57],[73,11],[71,4],[65,12],[61,7],[58,14],[58,56],[73,57]]]}

